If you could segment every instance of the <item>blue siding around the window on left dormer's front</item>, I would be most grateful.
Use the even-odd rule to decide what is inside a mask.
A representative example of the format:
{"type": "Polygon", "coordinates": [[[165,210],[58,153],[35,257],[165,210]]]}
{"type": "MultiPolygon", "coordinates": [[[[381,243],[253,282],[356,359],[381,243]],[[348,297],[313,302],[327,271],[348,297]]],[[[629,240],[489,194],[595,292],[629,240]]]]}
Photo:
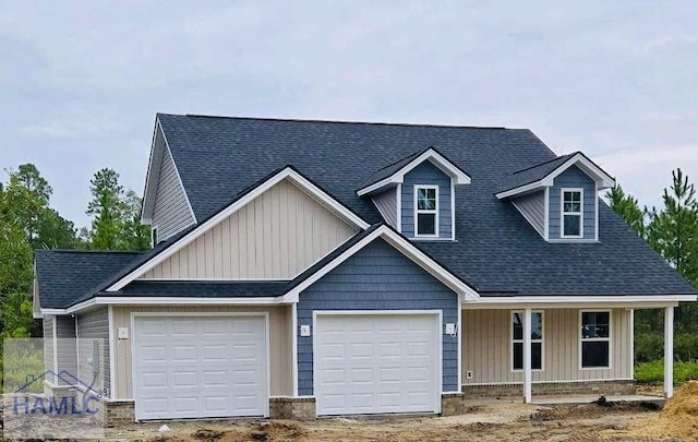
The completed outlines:
{"type": "Polygon", "coordinates": [[[414,186],[438,186],[438,236],[450,239],[450,177],[430,162],[407,172],[402,182],[402,235],[414,237],[414,186]]]}

